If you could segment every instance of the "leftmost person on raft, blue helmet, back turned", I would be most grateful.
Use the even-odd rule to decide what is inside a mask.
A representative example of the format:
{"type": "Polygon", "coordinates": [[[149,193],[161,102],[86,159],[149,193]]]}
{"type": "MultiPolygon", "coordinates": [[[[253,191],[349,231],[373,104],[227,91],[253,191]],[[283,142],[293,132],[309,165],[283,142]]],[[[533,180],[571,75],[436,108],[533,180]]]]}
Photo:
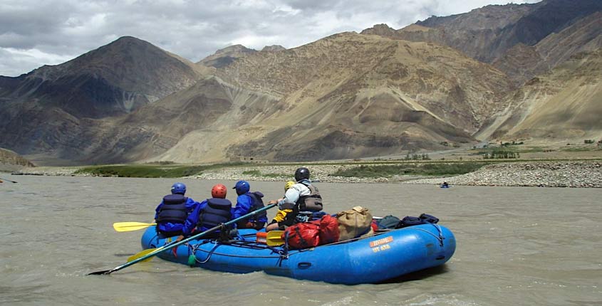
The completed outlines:
{"type": "Polygon", "coordinates": [[[164,196],[157,209],[155,209],[155,222],[157,231],[164,236],[178,236],[182,234],[182,227],[188,214],[199,204],[192,198],[184,196],[186,185],[175,183],[172,185],[172,194],[164,196]]]}

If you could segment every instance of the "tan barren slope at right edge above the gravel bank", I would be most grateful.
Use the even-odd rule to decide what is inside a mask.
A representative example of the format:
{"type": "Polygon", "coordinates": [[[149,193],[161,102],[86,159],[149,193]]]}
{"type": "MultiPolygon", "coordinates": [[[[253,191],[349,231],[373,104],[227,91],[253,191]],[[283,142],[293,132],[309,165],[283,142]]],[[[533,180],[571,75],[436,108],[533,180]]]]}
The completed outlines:
{"type": "Polygon", "coordinates": [[[601,49],[573,56],[507,97],[510,107],[477,137],[549,142],[601,138],[600,71],[601,49]]]}

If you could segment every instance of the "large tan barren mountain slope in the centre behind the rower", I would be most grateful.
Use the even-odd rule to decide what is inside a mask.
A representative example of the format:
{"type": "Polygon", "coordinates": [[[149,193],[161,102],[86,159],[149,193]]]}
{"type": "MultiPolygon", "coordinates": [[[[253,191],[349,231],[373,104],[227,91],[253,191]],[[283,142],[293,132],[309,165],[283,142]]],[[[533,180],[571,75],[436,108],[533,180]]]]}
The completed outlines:
{"type": "Polygon", "coordinates": [[[217,73],[258,100],[233,105],[226,122],[199,127],[159,159],[334,159],[471,142],[510,88],[450,48],[356,33],[254,53],[217,73]]]}

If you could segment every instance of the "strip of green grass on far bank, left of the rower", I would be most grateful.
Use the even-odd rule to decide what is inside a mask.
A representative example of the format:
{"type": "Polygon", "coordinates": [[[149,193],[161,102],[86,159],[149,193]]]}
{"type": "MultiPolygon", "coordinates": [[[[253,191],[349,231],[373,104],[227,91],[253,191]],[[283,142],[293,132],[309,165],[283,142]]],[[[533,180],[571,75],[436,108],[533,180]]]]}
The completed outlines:
{"type": "Polygon", "coordinates": [[[209,164],[209,165],[177,165],[177,164],[128,164],[91,166],[79,169],[76,174],[119,177],[182,177],[201,174],[208,169],[235,167],[242,163],[209,164]]]}

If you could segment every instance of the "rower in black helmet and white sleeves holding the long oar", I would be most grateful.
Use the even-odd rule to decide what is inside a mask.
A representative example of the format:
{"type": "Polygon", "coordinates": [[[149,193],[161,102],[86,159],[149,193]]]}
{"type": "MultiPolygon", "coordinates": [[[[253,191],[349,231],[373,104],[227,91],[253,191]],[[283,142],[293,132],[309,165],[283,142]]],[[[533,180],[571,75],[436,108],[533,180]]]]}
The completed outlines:
{"type": "Polygon", "coordinates": [[[284,198],[269,201],[269,204],[278,204],[279,213],[284,215],[284,220],[278,221],[274,218],[266,227],[266,231],[284,230],[295,223],[311,221],[324,214],[322,196],[309,180],[309,169],[296,169],[295,181],[296,183],[286,190],[284,198]]]}

